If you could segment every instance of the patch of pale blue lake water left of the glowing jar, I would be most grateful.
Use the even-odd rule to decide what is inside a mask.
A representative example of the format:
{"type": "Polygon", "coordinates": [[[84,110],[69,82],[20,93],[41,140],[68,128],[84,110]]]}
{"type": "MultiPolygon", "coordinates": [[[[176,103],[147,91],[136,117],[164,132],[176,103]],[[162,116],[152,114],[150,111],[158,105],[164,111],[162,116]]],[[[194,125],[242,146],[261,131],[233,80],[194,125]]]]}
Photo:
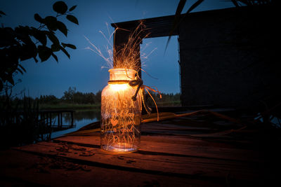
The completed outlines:
{"type": "MultiPolygon", "coordinates": [[[[73,113],[74,127],[67,130],[52,132],[51,138],[60,137],[63,134],[74,132],[76,130],[79,130],[81,127],[84,127],[85,125],[96,122],[98,120],[100,120],[100,111],[75,111],[73,113]]],[[[63,125],[68,124],[71,124],[70,113],[63,113],[63,125]]]]}

